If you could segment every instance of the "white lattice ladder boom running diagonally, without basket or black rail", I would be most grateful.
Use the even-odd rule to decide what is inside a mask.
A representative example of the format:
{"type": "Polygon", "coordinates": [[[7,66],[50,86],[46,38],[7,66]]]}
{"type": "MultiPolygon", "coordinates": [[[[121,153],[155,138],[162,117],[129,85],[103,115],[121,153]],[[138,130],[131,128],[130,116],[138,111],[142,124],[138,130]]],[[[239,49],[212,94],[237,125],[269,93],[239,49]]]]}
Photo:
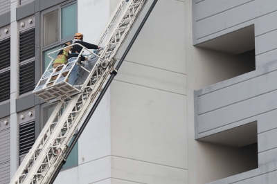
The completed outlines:
{"type": "MultiPolygon", "coordinates": [[[[86,112],[92,107],[93,101],[105,84],[109,73],[114,70],[116,62],[114,57],[132,28],[134,21],[136,21],[145,6],[146,1],[129,0],[128,2],[122,1],[120,3],[114,17],[111,17],[98,40],[98,45],[103,45],[105,42],[106,47],[102,50],[96,65],[90,71],[84,84],[79,86],[79,88],[64,82],[67,83],[66,85],[78,89],[79,92],[74,92],[74,95],[67,93],[63,98],[56,98],[61,101],[57,103],[55,110],[39,134],[32,149],[30,149],[17,169],[15,176],[10,181],[11,184],[47,184],[51,181],[53,172],[64,159],[64,152],[80,122],[82,122],[86,112]]],[[[41,80],[48,77],[47,80],[49,82],[49,77],[53,76],[53,73],[55,73],[55,70],[52,73],[44,73],[45,75],[42,76],[41,80]]],[[[61,75],[61,73],[58,75],[61,75]]],[[[54,86],[47,89],[54,89],[54,86]]],[[[55,88],[57,88],[57,85],[55,88]]]]}

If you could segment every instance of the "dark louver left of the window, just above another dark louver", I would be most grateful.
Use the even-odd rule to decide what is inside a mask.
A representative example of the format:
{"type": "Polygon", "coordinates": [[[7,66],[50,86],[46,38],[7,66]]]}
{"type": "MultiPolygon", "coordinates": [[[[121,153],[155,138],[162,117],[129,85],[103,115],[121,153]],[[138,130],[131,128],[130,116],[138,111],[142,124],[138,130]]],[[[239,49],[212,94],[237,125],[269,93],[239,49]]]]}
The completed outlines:
{"type": "Polygon", "coordinates": [[[19,62],[35,57],[35,28],[19,34],[19,62]]]}

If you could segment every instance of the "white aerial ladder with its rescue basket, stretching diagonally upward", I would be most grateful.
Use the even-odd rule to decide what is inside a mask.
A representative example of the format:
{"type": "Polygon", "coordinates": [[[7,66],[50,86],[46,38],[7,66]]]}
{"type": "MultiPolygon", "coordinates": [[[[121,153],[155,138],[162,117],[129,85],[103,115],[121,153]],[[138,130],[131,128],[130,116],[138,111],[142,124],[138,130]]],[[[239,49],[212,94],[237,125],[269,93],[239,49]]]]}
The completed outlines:
{"type": "MultiPolygon", "coordinates": [[[[57,70],[58,67],[51,68],[55,60],[51,57],[52,61],[46,71],[44,71],[33,93],[48,103],[58,102],[10,184],[50,184],[55,181],[55,177],[60,172],[80,134],[82,134],[82,130],[91,117],[93,110],[96,109],[102,99],[102,95],[107,91],[118,68],[132,47],[137,35],[139,35],[139,31],[157,3],[157,0],[154,0],[141,26],[125,50],[123,57],[114,68],[116,63],[114,58],[147,1],[120,0],[120,5],[109,19],[107,26],[98,39],[97,45],[105,46],[102,50],[93,53],[93,50],[88,50],[79,44],[82,46],[82,52],[80,52],[78,58],[84,53],[92,55],[93,57],[91,58],[93,59],[91,59],[90,63],[69,62],[58,66],[60,69],[57,70]],[[67,82],[67,79],[75,64],[80,65],[80,77],[75,84],[71,85],[67,82]],[[88,111],[89,115],[85,117],[88,111]],[[74,138],[69,147],[69,142],[84,118],[86,118],[84,120],[86,123],[83,122],[84,125],[81,126],[81,131],[78,131],[77,138],[74,138]]],[[[53,53],[57,53],[59,50],[55,50],[53,53]]]]}

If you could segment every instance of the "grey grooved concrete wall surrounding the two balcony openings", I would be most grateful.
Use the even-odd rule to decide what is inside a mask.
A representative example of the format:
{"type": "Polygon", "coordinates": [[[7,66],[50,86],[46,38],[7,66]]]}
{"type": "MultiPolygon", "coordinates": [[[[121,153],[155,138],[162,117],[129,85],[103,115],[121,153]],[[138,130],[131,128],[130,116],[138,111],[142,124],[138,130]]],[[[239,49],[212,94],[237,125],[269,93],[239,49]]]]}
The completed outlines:
{"type": "Polygon", "coordinates": [[[276,183],[276,5],[272,0],[193,1],[195,45],[255,26],[256,71],[195,91],[195,138],[257,121],[258,169],[211,183],[276,183]]]}

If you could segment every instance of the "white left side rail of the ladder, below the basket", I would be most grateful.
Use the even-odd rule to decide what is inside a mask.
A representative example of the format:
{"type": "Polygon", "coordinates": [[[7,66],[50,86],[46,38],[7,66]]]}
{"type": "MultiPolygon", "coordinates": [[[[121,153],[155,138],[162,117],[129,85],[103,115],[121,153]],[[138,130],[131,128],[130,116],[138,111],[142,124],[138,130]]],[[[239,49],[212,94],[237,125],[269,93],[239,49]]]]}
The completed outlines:
{"type": "Polygon", "coordinates": [[[28,154],[26,154],[24,160],[22,161],[21,165],[19,166],[19,168],[17,169],[17,172],[15,173],[15,175],[12,177],[12,180],[10,183],[15,183],[15,181],[19,180],[19,175],[21,175],[22,173],[24,173],[24,170],[26,170],[26,164],[28,162],[30,162],[30,160],[33,160],[33,155],[35,154],[36,149],[39,147],[39,145],[42,142],[42,138],[44,137],[44,135],[46,134],[46,131],[48,131],[48,127],[49,125],[53,122],[53,120],[56,118],[56,114],[60,111],[60,108],[62,107],[62,102],[58,103],[57,106],[55,107],[53,113],[51,114],[51,116],[49,117],[49,119],[46,122],[46,125],[44,126],[44,128],[42,129],[41,133],[39,134],[37,140],[35,141],[33,147],[28,151],[28,154]]]}

